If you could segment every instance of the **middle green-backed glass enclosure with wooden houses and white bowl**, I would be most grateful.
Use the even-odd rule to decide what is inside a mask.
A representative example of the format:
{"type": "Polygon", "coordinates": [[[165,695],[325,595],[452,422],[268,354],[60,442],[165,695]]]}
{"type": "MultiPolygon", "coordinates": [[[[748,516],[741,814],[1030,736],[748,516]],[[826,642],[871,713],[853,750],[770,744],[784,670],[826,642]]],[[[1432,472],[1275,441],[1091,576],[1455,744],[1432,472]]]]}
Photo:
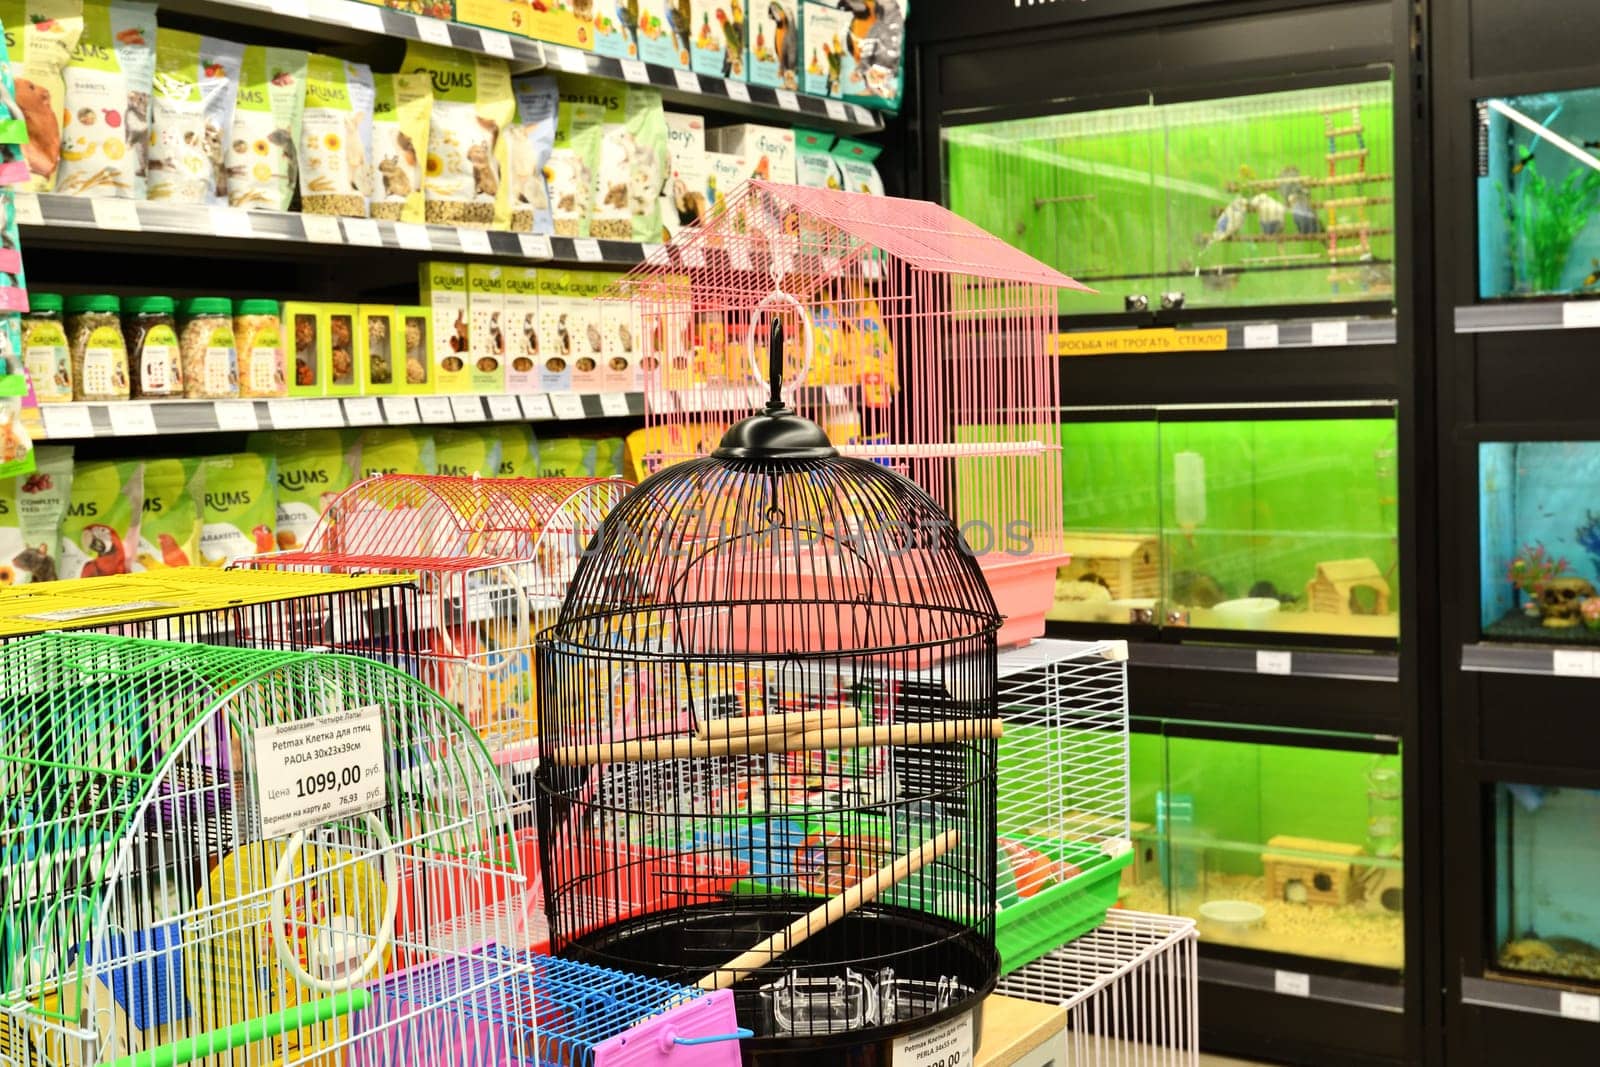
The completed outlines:
{"type": "Polygon", "coordinates": [[[1394,641],[1394,408],[1299,414],[1067,422],[1050,617],[1394,641]]]}

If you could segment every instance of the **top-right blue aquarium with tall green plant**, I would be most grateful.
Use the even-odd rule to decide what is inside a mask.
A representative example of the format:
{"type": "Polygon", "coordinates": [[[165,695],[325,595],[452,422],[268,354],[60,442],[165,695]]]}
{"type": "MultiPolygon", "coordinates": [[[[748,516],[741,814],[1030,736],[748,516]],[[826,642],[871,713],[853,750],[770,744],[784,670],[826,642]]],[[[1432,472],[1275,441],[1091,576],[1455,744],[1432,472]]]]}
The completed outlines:
{"type": "Polygon", "coordinates": [[[1478,101],[1478,296],[1600,294],[1600,88],[1478,101]]]}

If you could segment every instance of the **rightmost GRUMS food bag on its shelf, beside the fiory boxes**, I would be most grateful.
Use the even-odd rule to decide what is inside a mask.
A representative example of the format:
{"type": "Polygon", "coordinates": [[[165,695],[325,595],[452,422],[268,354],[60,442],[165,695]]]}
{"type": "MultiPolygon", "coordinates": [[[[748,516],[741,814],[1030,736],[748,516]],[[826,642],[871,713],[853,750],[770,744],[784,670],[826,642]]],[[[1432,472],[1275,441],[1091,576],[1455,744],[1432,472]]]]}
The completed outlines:
{"type": "Polygon", "coordinates": [[[667,170],[661,93],[637,85],[613,88],[603,122],[589,235],[651,242],[661,232],[661,179],[667,170]],[[621,109],[611,107],[618,96],[621,109]]]}

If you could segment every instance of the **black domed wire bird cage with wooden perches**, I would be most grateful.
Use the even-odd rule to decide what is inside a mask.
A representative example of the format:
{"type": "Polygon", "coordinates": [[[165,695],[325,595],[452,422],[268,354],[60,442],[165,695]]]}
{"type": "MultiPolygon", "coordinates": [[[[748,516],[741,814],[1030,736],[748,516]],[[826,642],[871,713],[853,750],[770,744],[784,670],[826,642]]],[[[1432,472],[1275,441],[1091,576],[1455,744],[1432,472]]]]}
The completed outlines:
{"type": "Polygon", "coordinates": [[[766,410],[611,512],[538,643],[552,952],[733,989],[763,1064],[992,989],[1002,621],[926,493],[784,406],[778,317],[768,362],[766,410]]]}

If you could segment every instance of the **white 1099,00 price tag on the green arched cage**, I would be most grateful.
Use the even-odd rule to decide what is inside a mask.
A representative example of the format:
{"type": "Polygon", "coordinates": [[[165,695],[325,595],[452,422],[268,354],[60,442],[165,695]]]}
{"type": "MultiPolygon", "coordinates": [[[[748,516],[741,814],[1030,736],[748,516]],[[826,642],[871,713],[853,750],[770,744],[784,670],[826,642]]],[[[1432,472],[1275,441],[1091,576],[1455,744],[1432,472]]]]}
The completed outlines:
{"type": "Polygon", "coordinates": [[[267,840],[376,811],[387,792],[376,704],[256,728],[256,803],[267,840]]]}

